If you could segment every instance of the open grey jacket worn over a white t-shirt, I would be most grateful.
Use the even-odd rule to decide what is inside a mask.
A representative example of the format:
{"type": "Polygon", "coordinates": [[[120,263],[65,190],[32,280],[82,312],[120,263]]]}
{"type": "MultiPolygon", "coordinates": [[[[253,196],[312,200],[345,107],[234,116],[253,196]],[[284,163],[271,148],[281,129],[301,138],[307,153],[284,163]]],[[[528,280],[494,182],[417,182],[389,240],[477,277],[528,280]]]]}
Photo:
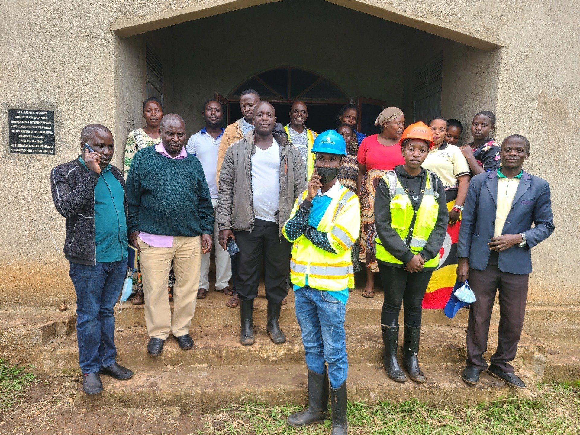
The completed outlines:
{"type": "MultiPolygon", "coordinates": [[[[306,172],[300,151],[292,146],[285,135],[277,132],[273,134],[280,146],[280,200],[276,222],[281,235],[294,201],[306,190],[306,172]]],[[[253,131],[226,151],[219,176],[216,208],[216,221],[220,230],[253,230],[252,155],[255,152],[253,131]]]]}

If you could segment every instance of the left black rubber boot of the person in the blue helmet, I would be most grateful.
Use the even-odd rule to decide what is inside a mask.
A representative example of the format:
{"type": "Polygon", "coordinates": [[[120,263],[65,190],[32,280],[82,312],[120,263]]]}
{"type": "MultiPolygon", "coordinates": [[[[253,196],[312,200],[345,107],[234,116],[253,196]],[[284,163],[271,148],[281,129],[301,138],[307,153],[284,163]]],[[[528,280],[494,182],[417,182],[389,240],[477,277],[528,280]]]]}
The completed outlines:
{"type": "Polygon", "coordinates": [[[328,374],[326,367],[322,375],[308,371],[308,408],[288,417],[293,427],[324,423],[328,420],[328,374]]]}

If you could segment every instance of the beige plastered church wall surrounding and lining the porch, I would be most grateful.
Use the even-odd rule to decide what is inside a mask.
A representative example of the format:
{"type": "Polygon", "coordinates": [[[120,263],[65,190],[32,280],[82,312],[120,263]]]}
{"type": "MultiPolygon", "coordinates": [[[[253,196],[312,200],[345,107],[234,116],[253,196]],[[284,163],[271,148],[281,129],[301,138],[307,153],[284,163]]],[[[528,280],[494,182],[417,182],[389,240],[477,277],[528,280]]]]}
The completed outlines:
{"type": "MultiPolygon", "coordinates": [[[[495,137],[527,136],[532,149],[526,168],[552,186],[556,233],[533,251],[530,303],[577,304],[577,260],[562,251],[580,236],[580,194],[557,176],[578,175],[575,2],[489,0],[474,7],[451,0],[444,13],[435,0],[329,3],[335,5],[0,3],[0,298],[39,303],[74,298],[62,253],[64,218],[52,204],[49,172],[78,155],[79,132],[92,122],[111,128],[122,162],[126,135],[142,121],[147,40],[164,60],[166,107],[182,112],[195,128],[208,93],[229,92],[249,75],[281,65],[327,75],[349,95],[398,101],[409,113],[414,67],[443,51],[442,114],[469,125],[476,111],[495,110],[495,137]],[[245,21],[235,23],[235,17],[245,21]],[[348,54],[363,59],[345,67],[348,54]],[[54,110],[56,155],[9,154],[8,108],[54,110]]],[[[470,139],[469,131],[462,139],[470,139]]]]}

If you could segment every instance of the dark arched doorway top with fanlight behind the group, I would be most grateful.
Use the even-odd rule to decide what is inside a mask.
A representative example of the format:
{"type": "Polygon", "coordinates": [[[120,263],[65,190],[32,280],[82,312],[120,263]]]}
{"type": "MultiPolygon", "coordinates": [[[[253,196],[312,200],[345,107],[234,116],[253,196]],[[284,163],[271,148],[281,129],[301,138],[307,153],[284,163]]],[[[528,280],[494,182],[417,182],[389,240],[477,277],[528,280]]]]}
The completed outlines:
{"type": "Polygon", "coordinates": [[[335,116],[349,97],[328,78],[311,71],[293,67],[278,67],[263,71],[235,86],[227,97],[219,96],[227,104],[227,122],[242,117],[240,95],[246,89],[256,90],[263,100],[273,104],[278,122],[290,122],[292,103],[303,101],[308,106],[308,128],[321,132],[335,127],[335,116]]]}

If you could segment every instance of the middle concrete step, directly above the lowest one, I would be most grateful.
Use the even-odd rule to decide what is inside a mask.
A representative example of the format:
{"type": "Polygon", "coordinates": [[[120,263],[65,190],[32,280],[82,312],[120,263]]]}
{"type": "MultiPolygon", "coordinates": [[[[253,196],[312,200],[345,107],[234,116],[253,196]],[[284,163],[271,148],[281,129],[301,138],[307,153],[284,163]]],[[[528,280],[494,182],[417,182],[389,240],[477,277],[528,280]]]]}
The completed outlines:
{"type": "MultiPolygon", "coordinates": [[[[195,346],[184,351],[173,338],[169,338],[161,356],[151,358],[146,351],[148,336],[144,328],[118,328],[115,335],[118,361],[134,371],[142,369],[176,367],[186,365],[252,365],[252,364],[294,364],[304,361],[304,348],[298,325],[285,325],[287,342],[274,345],[262,326],[255,327],[256,343],[242,346],[238,342],[238,327],[192,327],[191,336],[195,346]]],[[[402,329],[402,328],[401,328],[402,329]]],[[[496,328],[495,328],[496,329],[496,328]]],[[[491,336],[490,344],[496,338],[491,336]]],[[[380,325],[373,327],[360,325],[347,327],[347,352],[351,364],[371,363],[381,365],[383,342],[380,325]]],[[[400,331],[400,351],[402,355],[403,331],[400,331]]],[[[523,362],[533,362],[536,355],[545,349],[541,342],[524,334],[517,357],[523,362]]],[[[487,353],[490,357],[491,351],[487,353]]],[[[421,361],[432,364],[465,361],[465,328],[456,325],[425,325],[422,328],[419,356],[421,361]]],[[[31,356],[32,357],[32,356],[31,356]]],[[[39,371],[53,372],[55,369],[66,374],[78,367],[78,350],[75,337],[57,340],[34,356],[34,364],[39,371]]]]}

